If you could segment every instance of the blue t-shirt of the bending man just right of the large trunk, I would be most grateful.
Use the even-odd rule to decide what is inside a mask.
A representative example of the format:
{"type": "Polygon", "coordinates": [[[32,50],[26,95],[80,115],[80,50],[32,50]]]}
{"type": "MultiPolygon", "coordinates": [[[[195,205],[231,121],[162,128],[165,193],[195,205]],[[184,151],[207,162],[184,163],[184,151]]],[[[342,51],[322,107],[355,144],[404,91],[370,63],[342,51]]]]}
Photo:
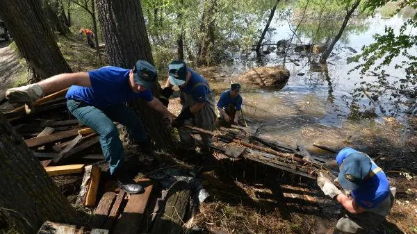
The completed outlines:
{"type": "Polygon", "coordinates": [[[197,103],[206,102],[207,94],[211,92],[210,85],[208,85],[203,76],[199,75],[190,67],[187,67],[187,70],[191,73],[190,81],[188,81],[186,86],[179,87],[179,90],[185,92],[188,95],[191,95],[193,100],[197,103]],[[198,83],[204,83],[205,85],[197,85],[198,83]]]}

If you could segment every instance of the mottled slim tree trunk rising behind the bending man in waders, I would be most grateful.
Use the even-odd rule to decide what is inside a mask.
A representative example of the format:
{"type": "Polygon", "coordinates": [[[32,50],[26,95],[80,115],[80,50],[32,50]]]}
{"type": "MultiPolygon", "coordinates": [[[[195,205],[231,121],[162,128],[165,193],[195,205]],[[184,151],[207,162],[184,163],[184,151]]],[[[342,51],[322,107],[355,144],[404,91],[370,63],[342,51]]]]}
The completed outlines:
{"type": "Polygon", "coordinates": [[[212,65],[214,62],[214,42],[215,42],[215,12],[217,0],[204,1],[202,23],[197,46],[197,65],[212,65]]]}

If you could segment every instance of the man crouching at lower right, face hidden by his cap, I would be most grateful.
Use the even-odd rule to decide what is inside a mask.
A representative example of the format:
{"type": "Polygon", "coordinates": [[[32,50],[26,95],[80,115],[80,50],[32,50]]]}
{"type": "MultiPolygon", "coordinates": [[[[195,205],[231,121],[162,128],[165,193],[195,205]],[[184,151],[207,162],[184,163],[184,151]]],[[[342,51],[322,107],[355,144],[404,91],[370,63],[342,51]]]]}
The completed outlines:
{"type": "Polygon", "coordinates": [[[381,224],[393,204],[393,193],[382,169],[365,153],[342,149],[336,156],[337,181],[350,195],[345,195],[328,178],[320,174],[321,190],[343,206],[343,217],[334,233],[368,233],[381,224]]]}

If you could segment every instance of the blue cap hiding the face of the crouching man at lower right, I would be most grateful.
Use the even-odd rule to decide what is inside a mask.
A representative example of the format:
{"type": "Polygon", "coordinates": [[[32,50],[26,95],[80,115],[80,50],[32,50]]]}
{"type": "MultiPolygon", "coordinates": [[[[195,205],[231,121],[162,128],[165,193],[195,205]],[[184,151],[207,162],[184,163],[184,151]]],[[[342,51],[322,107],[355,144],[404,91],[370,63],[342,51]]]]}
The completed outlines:
{"type": "Polygon", "coordinates": [[[347,190],[357,190],[370,172],[372,162],[361,152],[350,153],[339,167],[338,183],[347,190]]]}

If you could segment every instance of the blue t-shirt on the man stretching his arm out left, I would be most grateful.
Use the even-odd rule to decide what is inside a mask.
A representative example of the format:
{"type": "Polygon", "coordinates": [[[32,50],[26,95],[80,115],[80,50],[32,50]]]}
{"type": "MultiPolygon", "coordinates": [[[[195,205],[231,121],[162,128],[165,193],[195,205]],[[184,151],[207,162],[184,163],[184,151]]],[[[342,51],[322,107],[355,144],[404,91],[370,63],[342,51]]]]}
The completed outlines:
{"type": "Polygon", "coordinates": [[[129,85],[129,69],[120,67],[101,67],[88,72],[91,87],[72,85],[65,96],[67,99],[81,100],[97,108],[142,98],[152,101],[151,90],[133,92],[129,85]]]}

